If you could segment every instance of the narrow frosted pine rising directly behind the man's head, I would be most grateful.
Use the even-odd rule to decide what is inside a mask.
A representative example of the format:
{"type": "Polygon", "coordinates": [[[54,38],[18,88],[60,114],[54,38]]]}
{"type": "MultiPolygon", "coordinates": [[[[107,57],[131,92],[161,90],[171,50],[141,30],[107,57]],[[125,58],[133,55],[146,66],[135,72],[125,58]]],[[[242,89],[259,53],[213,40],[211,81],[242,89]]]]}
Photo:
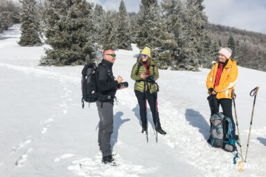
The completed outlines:
{"type": "Polygon", "coordinates": [[[116,11],[107,11],[104,26],[103,37],[103,49],[105,48],[117,48],[117,26],[118,15],[116,11]]]}

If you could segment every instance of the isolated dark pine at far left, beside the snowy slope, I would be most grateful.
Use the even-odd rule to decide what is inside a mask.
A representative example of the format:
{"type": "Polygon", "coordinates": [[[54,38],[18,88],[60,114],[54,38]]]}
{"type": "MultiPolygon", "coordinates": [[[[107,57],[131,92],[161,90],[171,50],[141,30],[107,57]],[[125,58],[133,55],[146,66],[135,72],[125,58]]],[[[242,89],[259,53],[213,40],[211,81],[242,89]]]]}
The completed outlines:
{"type": "Polygon", "coordinates": [[[21,15],[21,37],[19,45],[38,46],[42,44],[39,38],[39,17],[36,12],[35,0],[21,0],[23,13],[21,15]]]}

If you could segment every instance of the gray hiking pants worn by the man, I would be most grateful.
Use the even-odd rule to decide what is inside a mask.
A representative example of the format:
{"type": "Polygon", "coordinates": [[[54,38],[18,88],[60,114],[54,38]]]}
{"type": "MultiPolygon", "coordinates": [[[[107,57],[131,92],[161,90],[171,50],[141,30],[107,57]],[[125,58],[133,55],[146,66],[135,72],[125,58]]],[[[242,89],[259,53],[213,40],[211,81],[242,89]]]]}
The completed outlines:
{"type": "Polygon", "coordinates": [[[103,157],[112,155],[110,146],[110,139],[113,133],[113,107],[114,104],[110,102],[96,101],[98,113],[100,117],[98,143],[100,151],[103,153],[103,157]]]}

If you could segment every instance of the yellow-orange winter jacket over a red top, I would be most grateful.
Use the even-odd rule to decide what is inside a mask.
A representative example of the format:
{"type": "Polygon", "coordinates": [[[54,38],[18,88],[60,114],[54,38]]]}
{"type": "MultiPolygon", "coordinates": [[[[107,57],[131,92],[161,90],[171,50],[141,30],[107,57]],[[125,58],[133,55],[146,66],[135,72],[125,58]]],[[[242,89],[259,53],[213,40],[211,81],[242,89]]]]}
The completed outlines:
{"type": "MultiPolygon", "coordinates": [[[[209,73],[206,81],[206,86],[208,88],[213,88],[215,83],[216,72],[218,70],[219,62],[216,62],[211,68],[211,72],[209,73]]],[[[236,81],[238,80],[238,66],[236,65],[236,61],[232,58],[229,58],[227,65],[224,66],[222,70],[222,74],[220,77],[219,85],[215,86],[215,91],[217,92],[216,98],[229,98],[232,99],[232,90],[236,85],[236,81]]]]}

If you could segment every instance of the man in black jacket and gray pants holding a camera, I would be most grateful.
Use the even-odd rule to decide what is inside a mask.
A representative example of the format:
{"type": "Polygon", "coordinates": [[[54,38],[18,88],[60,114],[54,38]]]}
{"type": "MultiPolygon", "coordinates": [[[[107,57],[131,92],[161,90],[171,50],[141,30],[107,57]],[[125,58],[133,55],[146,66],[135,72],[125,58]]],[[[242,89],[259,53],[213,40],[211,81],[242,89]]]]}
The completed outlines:
{"type": "MultiPolygon", "coordinates": [[[[103,51],[103,60],[98,65],[96,70],[96,83],[98,101],[96,105],[100,117],[98,143],[100,151],[103,153],[102,162],[112,163],[112,150],[110,149],[110,139],[113,133],[113,107],[114,98],[116,95],[117,86],[123,81],[123,78],[118,75],[115,80],[112,72],[112,66],[116,59],[116,54],[112,49],[105,49],[103,51]]],[[[121,86],[122,89],[125,86],[121,86]]]]}

